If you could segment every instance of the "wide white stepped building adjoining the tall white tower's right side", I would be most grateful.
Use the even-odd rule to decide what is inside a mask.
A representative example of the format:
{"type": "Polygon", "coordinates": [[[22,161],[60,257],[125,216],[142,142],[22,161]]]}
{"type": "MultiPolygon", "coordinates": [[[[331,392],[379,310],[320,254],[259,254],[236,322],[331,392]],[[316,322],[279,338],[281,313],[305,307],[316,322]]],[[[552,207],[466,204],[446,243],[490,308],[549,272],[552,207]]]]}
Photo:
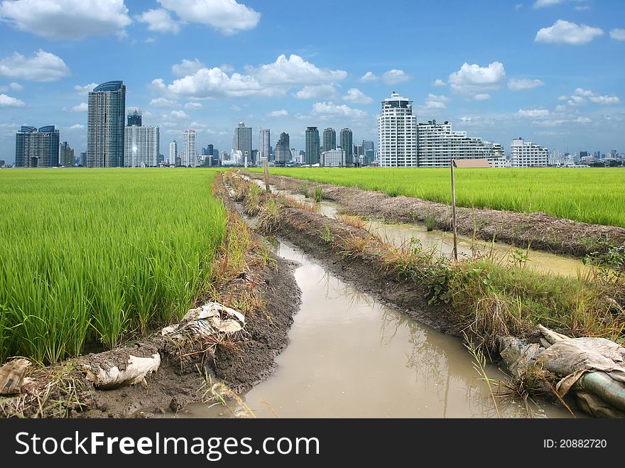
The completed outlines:
{"type": "Polygon", "coordinates": [[[504,147],[499,143],[467,136],[466,131],[452,131],[446,121],[435,120],[417,126],[419,167],[448,168],[452,159],[488,159],[491,167],[504,167],[504,147]]]}

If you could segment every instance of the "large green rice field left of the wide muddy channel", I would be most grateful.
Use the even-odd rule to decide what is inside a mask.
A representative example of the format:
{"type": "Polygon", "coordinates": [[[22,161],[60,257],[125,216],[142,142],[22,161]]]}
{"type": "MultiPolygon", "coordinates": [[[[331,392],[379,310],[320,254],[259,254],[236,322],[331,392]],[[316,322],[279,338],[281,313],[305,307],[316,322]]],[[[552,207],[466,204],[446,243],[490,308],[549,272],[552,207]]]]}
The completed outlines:
{"type": "Polygon", "coordinates": [[[0,363],[55,362],[181,317],[224,241],[215,174],[0,170],[0,363]]]}

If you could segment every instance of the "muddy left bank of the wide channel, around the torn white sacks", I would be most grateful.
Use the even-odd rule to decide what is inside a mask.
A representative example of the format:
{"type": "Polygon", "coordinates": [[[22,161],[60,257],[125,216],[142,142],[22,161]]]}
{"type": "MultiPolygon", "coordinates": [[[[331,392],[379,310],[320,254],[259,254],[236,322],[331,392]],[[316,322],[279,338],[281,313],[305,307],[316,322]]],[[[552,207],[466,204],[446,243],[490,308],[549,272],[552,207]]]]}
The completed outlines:
{"type": "MultiPolygon", "coordinates": [[[[215,192],[229,209],[229,229],[237,229],[233,220],[242,224],[241,219],[220,180],[215,192]]],[[[254,245],[255,234],[243,235],[252,236],[254,245]]],[[[256,241],[256,245],[261,243],[256,241]]],[[[227,251],[222,254],[222,266],[227,268],[227,251]]],[[[245,303],[244,339],[207,350],[203,349],[206,343],[175,344],[156,332],[112,352],[87,354],[45,369],[32,369],[27,374],[30,381],[19,395],[0,398],[0,417],[151,417],[153,413],[178,411],[203,401],[210,388],[205,376],[224,381],[236,393],[263,381],[273,370],[273,359],[288,344],[288,330],[300,306],[300,289],[293,276],[295,263],[266,252],[259,254],[254,248],[246,255],[266,258],[264,263],[250,259],[246,271],[231,273],[227,281],[218,281],[214,295],[200,300],[214,300],[233,308],[245,303]],[[81,370],[84,364],[110,367],[116,363],[122,363],[119,369],[124,370],[130,355],[154,354],[160,355],[161,366],[146,377],[146,386],[97,390],[81,370]]]]}

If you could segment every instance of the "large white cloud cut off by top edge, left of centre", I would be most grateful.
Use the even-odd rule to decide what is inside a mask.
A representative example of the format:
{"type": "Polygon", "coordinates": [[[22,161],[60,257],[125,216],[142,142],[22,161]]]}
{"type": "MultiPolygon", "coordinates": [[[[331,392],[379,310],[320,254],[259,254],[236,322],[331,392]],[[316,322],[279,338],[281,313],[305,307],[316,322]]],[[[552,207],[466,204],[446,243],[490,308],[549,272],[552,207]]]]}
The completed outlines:
{"type": "Polygon", "coordinates": [[[261,13],[235,0],[158,0],[158,3],[183,21],[207,24],[224,34],[253,29],[261,19],[261,13]]]}

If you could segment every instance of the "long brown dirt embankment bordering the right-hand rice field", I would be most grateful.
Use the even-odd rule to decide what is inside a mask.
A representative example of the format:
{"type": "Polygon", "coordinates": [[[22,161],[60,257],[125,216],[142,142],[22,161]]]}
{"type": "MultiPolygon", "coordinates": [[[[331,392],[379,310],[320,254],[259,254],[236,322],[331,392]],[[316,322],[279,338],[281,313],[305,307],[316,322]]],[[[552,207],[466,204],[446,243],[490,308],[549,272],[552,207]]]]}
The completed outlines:
{"type": "MultiPolygon", "coordinates": [[[[259,173],[249,173],[249,176],[263,178],[259,173]]],[[[404,196],[389,197],[381,192],[311,183],[281,175],[271,175],[270,183],[285,190],[305,194],[312,193],[313,187],[322,187],[323,198],[336,202],[349,214],[420,224],[430,218],[435,220],[437,229],[452,229],[449,205],[404,196]]],[[[544,212],[525,214],[459,208],[457,229],[459,234],[476,236],[485,241],[495,239],[512,246],[531,246],[532,249],[580,258],[594,252],[605,254],[611,246],[625,245],[624,228],[561,219],[544,212]]]]}

